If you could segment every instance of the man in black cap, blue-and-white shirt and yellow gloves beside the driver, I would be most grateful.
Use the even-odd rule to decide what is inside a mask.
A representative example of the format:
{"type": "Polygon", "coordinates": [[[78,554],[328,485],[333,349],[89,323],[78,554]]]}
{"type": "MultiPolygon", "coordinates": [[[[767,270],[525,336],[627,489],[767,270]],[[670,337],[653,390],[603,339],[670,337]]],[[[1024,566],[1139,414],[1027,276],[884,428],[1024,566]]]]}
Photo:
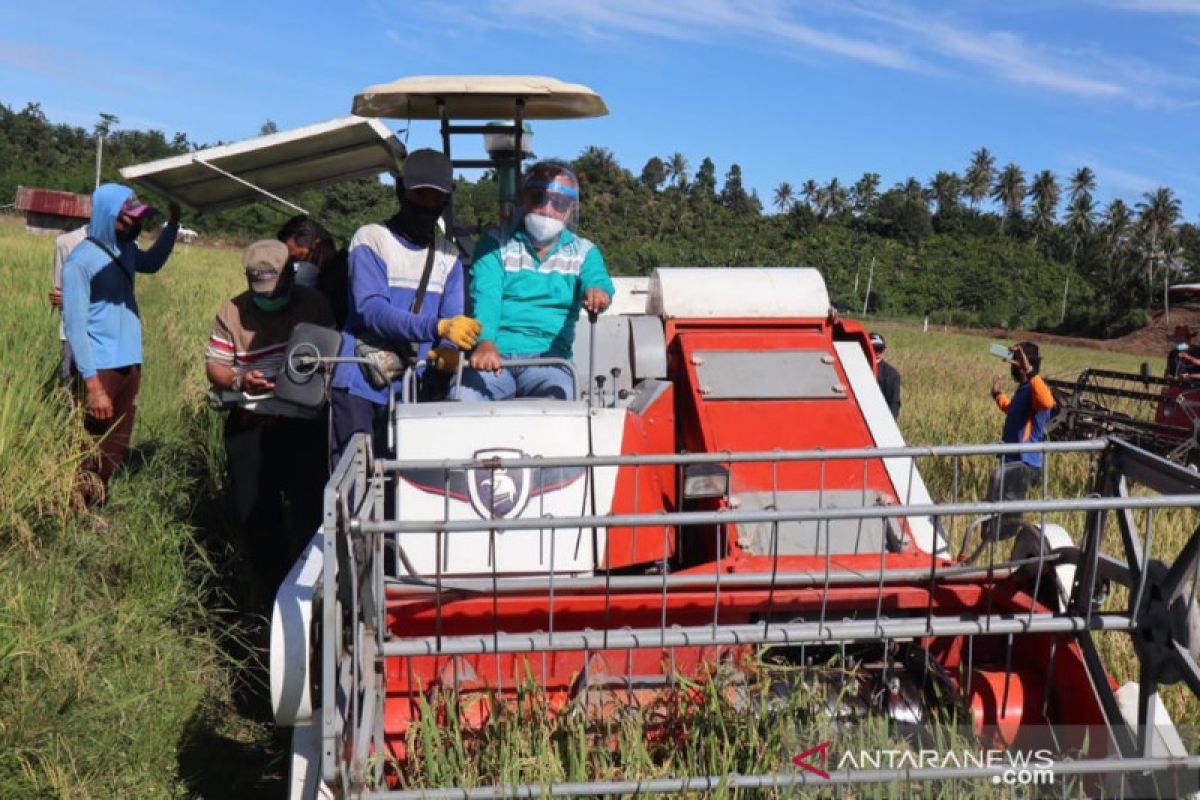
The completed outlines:
{"type": "MultiPolygon", "coordinates": [[[[359,228],[350,240],[343,357],[364,357],[364,348],[370,348],[413,365],[432,351],[439,369],[454,372],[455,348],[475,345],[479,323],[463,314],[458,248],[438,230],[454,191],[452,172],[450,158],[437,150],[409,154],[396,182],[400,212],[385,224],[359,228]]],[[[355,433],[371,434],[374,452],[386,452],[388,395],[394,390],[403,402],[402,373],[379,374],[359,363],[337,366],[330,391],[334,464],[355,433]]]]}

